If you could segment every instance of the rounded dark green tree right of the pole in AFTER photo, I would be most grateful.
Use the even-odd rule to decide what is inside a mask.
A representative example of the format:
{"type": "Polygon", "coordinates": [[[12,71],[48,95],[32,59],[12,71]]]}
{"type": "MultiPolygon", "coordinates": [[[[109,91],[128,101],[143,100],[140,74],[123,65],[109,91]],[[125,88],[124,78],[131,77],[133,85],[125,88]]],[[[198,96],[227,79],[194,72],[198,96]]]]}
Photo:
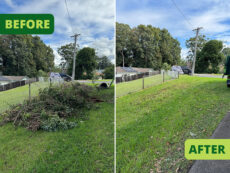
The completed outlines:
{"type": "Polygon", "coordinates": [[[222,41],[210,40],[205,43],[203,49],[197,54],[196,72],[218,73],[219,65],[224,58],[222,49],[222,41]]]}

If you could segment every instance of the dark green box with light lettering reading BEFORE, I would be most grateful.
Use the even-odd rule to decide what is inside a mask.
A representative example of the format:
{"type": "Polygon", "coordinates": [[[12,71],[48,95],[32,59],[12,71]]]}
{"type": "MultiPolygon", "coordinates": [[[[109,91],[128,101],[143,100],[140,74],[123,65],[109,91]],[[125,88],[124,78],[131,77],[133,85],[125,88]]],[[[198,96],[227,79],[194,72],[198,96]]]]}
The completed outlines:
{"type": "Polygon", "coordinates": [[[52,34],[52,14],[0,14],[0,34],[52,34]]]}

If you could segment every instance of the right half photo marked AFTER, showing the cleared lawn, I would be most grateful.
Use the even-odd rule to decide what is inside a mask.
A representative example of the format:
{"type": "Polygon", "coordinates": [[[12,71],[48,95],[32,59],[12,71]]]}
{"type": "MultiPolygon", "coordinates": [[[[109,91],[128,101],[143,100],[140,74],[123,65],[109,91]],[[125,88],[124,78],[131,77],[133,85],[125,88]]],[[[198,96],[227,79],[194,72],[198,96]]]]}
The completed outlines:
{"type": "Polygon", "coordinates": [[[229,172],[228,9],[117,0],[117,172],[229,172]]]}

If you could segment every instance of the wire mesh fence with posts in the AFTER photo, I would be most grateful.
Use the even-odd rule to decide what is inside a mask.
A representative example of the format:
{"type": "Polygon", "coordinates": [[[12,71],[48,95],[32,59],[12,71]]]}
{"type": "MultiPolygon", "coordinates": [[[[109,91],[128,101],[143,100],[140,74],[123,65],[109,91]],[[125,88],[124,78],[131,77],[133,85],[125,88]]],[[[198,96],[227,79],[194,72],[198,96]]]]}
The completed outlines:
{"type": "MultiPolygon", "coordinates": [[[[129,77],[129,79],[134,79],[134,78],[135,77],[132,76],[129,77]]],[[[120,83],[118,82],[116,85],[116,97],[121,97],[178,78],[179,78],[179,73],[175,71],[162,70],[158,74],[157,73],[152,75],[142,74],[142,78],[138,78],[136,80],[126,80],[127,82],[120,82],[120,83]]]]}

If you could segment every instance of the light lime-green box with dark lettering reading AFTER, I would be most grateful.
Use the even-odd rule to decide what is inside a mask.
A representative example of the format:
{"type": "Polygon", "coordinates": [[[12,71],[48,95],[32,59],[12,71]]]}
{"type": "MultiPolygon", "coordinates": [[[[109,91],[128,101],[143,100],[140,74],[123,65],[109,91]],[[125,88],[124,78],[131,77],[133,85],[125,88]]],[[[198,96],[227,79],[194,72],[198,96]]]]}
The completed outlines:
{"type": "Polygon", "coordinates": [[[230,160],[230,139],[187,139],[188,160],[230,160]]]}

